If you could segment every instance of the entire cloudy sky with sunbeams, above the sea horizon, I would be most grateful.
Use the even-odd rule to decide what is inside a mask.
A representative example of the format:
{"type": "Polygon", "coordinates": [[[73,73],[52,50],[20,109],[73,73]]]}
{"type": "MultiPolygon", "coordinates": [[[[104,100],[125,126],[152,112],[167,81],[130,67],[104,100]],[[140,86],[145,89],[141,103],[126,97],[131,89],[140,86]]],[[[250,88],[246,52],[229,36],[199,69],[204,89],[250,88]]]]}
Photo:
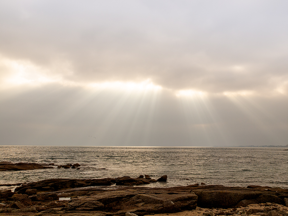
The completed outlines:
{"type": "Polygon", "coordinates": [[[0,145],[287,145],[287,8],[0,0],[0,145]]]}

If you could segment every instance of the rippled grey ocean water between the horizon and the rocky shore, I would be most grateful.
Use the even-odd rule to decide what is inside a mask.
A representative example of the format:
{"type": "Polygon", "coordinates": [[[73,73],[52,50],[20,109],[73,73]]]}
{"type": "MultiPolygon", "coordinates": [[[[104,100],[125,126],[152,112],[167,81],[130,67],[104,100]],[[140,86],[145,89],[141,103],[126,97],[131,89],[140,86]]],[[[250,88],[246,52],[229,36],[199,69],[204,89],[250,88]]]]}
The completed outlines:
{"type": "MultiPolygon", "coordinates": [[[[225,186],[262,185],[288,188],[288,151],[263,147],[99,147],[99,146],[0,146],[0,161],[79,163],[76,169],[41,169],[0,172],[0,184],[50,178],[93,179],[138,177],[166,183],[146,187],[173,187],[195,183],[225,186]],[[103,169],[105,168],[105,169],[103,169]]],[[[142,185],[143,186],[143,185],[142,185]]]]}

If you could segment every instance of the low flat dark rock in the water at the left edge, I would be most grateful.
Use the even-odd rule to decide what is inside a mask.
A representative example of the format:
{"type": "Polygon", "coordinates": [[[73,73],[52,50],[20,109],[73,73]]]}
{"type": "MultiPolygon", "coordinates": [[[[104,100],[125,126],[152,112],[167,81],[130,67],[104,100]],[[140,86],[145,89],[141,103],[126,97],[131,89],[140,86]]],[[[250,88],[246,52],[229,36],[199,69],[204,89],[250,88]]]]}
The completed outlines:
{"type": "Polygon", "coordinates": [[[0,171],[7,170],[35,170],[35,169],[48,169],[54,168],[51,166],[46,166],[47,164],[37,164],[37,163],[2,163],[0,164],[0,171]]]}

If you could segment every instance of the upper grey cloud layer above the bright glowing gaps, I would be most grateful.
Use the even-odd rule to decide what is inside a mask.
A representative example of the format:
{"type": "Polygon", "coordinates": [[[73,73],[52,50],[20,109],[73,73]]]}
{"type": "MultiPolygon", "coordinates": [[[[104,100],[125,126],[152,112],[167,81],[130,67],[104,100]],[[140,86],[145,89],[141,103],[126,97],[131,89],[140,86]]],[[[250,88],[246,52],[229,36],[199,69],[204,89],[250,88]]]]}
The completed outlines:
{"type": "Polygon", "coordinates": [[[271,91],[288,80],[285,1],[1,5],[1,54],[51,73],[70,71],[62,74],[68,80],[151,78],[166,88],[209,92],[271,91]]]}

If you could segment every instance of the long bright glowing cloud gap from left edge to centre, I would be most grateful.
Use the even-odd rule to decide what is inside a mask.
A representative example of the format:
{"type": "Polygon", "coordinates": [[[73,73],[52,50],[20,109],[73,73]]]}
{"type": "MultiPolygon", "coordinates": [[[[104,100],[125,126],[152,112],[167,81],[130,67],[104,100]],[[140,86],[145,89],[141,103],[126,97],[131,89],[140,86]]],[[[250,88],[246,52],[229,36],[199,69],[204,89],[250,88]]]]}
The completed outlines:
{"type": "MultiPolygon", "coordinates": [[[[155,85],[150,79],[143,82],[75,82],[65,80],[61,74],[49,75],[50,71],[37,67],[29,61],[11,60],[1,58],[0,67],[5,68],[7,75],[0,80],[1,88],[13,88],[17,86],[41,86],[49,83],[58,83],[62,86],[79,86],[83,88],[92,88],[100,90],[120,90],[120,91],[147,91],[160,90],[161,86],[155,85]]],[[[0,77],[1,78],[1,77],[0,77]]]]}

